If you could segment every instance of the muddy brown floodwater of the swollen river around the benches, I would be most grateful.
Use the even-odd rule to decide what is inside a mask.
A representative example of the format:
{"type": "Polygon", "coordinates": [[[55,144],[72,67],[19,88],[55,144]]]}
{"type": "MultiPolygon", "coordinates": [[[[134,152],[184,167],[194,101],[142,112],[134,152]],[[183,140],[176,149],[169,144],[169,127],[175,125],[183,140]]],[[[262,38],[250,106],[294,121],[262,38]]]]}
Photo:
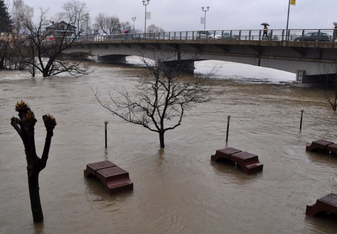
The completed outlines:
{"type": "Polygon", "coordinates": [[[196,72],[222,66],[213,79],[225,92],[166,132],[161,150],[157,133],[113,116],[91,91],[98,87],[106,98],[109,85],[132,87],[141,68],[130,64],[93,63],[95,71],[78,78],[0,72],[0,234],[336,234],[335,222],[305,215],[306,205],[337,193],[337,157],[305,151],[313,140],[337,142],[336,113],[319,92],[292,87],[295,74],[200,62],[196,72]],[[39,156],[46,134],[42,115],[57,121],[40,173],[44,222],[37,224],[23,144],[10,125],[21,99],[38,119],[39,156]],[[263,172],[246,175],[211,162],[225,147],[258,155],[263,172]],[[101,181],[84,178],[86,164],[103,160],[129,172],[133,191],[109,196],[101,181]]]}

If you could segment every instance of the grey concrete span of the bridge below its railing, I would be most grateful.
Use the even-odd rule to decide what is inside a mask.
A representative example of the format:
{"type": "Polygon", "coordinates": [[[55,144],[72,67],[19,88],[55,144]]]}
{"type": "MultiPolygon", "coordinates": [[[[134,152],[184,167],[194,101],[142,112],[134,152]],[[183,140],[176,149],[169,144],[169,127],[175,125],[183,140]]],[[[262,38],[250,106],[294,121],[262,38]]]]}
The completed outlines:
{"type": "Polygon", "coordinates": [[[112,40],[77,42],[67,53],[82,52],[97,61],[125,60],[126,56],[152,58],[153,53],[170,53],[172,60],[221,60],[251,64],[296,73],[296,82],[318,82],[317,75],[334,74],[337,43],[321,41],[263,40],[112,40]]]}

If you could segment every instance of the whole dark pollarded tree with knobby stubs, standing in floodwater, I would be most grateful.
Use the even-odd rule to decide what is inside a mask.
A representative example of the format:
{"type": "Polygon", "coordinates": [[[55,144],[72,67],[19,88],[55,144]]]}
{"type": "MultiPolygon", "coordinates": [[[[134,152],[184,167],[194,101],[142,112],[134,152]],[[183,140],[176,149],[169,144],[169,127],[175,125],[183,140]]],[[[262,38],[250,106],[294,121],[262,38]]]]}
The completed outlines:
{"type": "Polygon", "coordinates": [[[42,157],[40,158],[37,156],[35,149],[34,126],[37,120],[34,113],[30,110],[27,103],[22,100],[20,103],[17,102],[15,110],[19,112],[19,118],[13,116],[11,118],[11,125],[15,128],[23,141],[27,160],[28,187],[33,220],[42,221],[43,213],[39,192],[39,174],[47,164],[51,137],[53,137],[56,121],[52,116],[42,116],[44,126],[47,130],[47,137],[45,139],[42,157]]]}

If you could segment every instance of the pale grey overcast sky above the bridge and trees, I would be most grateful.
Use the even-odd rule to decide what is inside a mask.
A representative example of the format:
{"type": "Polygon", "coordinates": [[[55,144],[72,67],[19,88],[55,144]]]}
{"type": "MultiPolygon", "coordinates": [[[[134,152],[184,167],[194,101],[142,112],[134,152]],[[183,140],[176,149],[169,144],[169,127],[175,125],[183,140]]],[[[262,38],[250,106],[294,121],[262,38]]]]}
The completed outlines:
{"type": "MultiPolygon", "coordinates": [[[[24,0],[34,7],[35,17],[39,7],[49,8],[52,17],[62,10],[66,0],[24,0]]],[[[92,19],[98,13],[118,16],[121,21],[129,21],[136,29],[144,30],[145,6],[142,0],[84,0],[92,19]]],[[[287,26],[289,0],[150,0],[147,12],[151,20],[147,26],[155,24],[166,31],[191,31],[204,29],[200,18],[204,17],[201,7],[210,6],[206,13],[206,29],[261,29],[267,22],[269,29],[285,29],[287,26]]],[[[332,29],[337,21],[337,0],[296,0],[290,6],[289,29],[332,29]]],[[[92,21],[93,22],[93,21],[92,21]]]]}

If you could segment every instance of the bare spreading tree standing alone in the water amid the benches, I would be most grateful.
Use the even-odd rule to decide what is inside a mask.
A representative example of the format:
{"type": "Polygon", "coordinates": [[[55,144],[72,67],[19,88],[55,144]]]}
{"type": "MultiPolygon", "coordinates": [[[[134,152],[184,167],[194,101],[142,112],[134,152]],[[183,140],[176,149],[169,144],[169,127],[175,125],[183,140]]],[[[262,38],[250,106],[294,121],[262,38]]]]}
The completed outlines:
{"type": "Polygon", "coordinates": [[[109,91],[111,104],[104,104],[98,91],[93,91],[98,102],[107,110],[125,121],[142,125],[150,131],[159,133],[160,147],[164,148],[164,134],[181,125],[182,119],[198,103],[212,100],[210,78],[217,69],[206,76],[186,77],[191,62],[198,60],[189,55],[174,60],[174,53],[153,51],[152,59],[142,54],[145,70],[137,73],[138,84],[132,93],[125,88],[109,91]]]}

